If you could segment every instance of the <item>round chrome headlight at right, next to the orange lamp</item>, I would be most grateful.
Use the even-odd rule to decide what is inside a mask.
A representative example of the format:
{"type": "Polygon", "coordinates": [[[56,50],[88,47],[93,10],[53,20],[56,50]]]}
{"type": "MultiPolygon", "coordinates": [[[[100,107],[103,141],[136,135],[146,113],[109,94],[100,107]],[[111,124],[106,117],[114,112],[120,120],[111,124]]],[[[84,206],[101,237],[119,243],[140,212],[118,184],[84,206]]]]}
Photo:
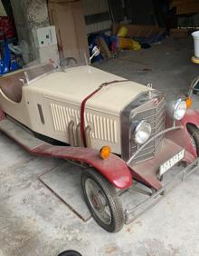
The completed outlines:
{"type": "Polygon", "coordinates": [[[175,120],[181,120],[186,113],[186,102],[182,99],[177,100],[169,104],[168,112],[170,116],[175,120]]]}

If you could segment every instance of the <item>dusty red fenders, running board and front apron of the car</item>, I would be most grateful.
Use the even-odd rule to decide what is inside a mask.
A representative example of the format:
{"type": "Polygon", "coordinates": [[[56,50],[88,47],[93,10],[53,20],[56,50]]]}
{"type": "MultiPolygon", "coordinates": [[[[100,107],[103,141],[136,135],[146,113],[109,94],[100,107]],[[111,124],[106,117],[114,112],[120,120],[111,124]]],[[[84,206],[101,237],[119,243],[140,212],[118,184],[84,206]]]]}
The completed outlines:
{"type": "MultiPolygon", "coordinates": [[[[5,113],[0,111],[0,121],[4,119],[5,113]]],[[[12,137],[9,133],[7,135],[12,137],[16,143],[21,144],[30,153],[87,163],[98,170],[118,189],[127,189],[132,185],[132,180],[136,178],[138,182],[142,182],[148,187],[158,190],[162,186],[161,182],[156,178],[154,173],[156,171],[151,171],[151,173],[148,171],[145,172],[145,170],[150,169],[149,166],[153,166],[152,169],[156,170],[160,163],[164,162],[164,159],[169,159],[180,148],[185,149],[185,162],[191,163],[197,158],[196,150],[186,129],[187,123],[192,123],[199,127],[199,113],[194,110],[188,110],[184,119],[176,123],[177,129],[166,133],[167,143],[165,148],[160,150],[154,159],[141,162],[133,167],[129,166],[127,162],[124,162],[115,154],[111,154],[107,160],[102,160],[97,150],[84,147],[55,146],[43,141],[37,147],[31,148],[25,143],[20,143],[17,138],[12,137]]],[[[0,130],[2,129],[0,128],[0,130]]],[[[6,133],[4,130],[2,132],[6,133]]]]}

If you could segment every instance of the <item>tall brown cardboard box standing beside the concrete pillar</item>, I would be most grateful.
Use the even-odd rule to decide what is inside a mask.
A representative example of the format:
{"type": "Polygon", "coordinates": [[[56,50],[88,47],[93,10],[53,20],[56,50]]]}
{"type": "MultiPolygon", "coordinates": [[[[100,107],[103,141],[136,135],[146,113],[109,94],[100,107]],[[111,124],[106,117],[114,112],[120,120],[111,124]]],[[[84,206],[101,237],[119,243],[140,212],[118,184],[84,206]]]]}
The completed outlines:
{"type": "Polygon", "coordinates": [[[74,58],[79,64],[85,63],[85,55],[89,58],[89,45],[82,1],[59,0],[57,3],[51,0],[48,8],[50,22],[56,28],[61,58],[74,58]]]}

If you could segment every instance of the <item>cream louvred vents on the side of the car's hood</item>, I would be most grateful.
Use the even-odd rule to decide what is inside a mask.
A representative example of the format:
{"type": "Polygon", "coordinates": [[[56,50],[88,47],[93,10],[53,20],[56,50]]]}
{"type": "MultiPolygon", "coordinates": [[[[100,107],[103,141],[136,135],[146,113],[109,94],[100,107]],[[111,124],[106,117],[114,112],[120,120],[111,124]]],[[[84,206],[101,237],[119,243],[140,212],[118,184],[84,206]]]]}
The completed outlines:
{"type": "MultiPolygon", "coordinates": [[[[56,132],[68,132],[71,120],[77,125],[80,123],[80,111],[66,106],[51,103],[52,121],[56,132]]],[[[85,125],[90,125],[92,139],[109,143],[118,143],[117,122],[111,118],[97,114],[85,113],[85,125]]]]}

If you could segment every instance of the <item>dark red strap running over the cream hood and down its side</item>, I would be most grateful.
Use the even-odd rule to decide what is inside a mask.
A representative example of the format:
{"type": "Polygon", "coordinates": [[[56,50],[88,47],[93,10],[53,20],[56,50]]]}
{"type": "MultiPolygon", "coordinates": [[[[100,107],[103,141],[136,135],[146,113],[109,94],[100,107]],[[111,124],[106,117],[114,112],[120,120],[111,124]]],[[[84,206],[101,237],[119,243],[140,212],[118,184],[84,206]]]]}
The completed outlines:
{"type": "Polygon", "coordinates": [[[84,118],[84,113],[85,113],[85,105],[87,103],[87,101],[94,95],[97,94],[103,87],[109,85],[109,84],[116,84],[116,83],[122,83],[122,82],[128,82],[129,80],[125,79],[125,80],[115,80],[115,81],[111,81],[108,83],[103,83],[100,84],[99,88],[96,89],[93,93],[91,93],[90,95],[88,95],[81,103],[81,139],[83,141],[83,145],[84,147],[87,146],[86,144],[86,134],[85,134],[85,118],[84,118]]]}

